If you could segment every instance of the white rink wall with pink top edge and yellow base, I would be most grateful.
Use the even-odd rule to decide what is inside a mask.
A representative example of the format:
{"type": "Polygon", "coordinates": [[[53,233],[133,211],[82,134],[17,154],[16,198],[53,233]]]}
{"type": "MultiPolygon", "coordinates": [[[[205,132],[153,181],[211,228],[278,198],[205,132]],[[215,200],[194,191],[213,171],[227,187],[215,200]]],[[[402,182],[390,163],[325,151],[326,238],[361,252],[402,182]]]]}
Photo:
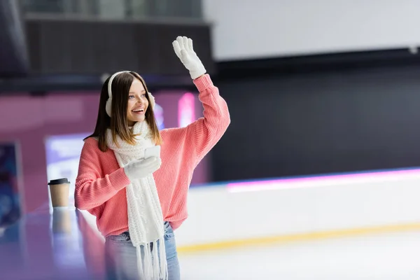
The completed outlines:
{"type": "Polygon", "coordinates": [[[420,169],[191,188],[176,242],[190,252],[420,229],[419,197],[420,169]]]}

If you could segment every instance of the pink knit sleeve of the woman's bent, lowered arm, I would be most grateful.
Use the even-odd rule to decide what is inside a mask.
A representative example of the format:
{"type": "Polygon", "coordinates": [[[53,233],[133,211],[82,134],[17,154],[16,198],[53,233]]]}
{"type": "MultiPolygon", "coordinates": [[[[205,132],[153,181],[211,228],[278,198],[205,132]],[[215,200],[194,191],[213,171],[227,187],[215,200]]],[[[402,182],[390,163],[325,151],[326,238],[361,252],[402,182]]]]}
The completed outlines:
{"type": "Polygon", "coordinates": [[[130,184],[121,167],[111,174],[103,174],[99,148],[85,141],[80,155],[75,206],[80,210],[98,207],[130,184]]]}

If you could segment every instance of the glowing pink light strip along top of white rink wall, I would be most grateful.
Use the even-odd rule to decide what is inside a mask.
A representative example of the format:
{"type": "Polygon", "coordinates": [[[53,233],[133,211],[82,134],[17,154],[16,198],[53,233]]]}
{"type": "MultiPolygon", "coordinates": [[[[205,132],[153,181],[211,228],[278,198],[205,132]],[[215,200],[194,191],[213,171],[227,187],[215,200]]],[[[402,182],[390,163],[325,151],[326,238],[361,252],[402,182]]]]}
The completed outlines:
{"type": "Polygon", "coordinates": [[[355,183],[374,183],[399,181],[401,179],[420,179],[420,169],[395,170],[386,172],[355,173],[331,176],[312,176],[297,179],[277,179],[267,181],[251,181],[228,183],[229,190],[234,192],[273,190],[286,188],[311,188],[322,186],[338,186],[355,183]]]}

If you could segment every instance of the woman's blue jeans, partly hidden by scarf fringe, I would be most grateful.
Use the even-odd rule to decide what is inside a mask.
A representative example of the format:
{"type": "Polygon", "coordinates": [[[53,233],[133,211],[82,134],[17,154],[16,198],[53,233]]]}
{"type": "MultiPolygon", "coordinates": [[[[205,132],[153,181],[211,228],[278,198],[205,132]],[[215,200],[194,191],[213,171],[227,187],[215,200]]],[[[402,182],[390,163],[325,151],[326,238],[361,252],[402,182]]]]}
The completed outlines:
{"type": "MultiPolygon", "coordinates": [[[[178,253],[176,253],[175,235],[169,222],[165,227],[165,251],[167,254],[168,279],[180,280],[178,253]]],[[[158,244],[160,246],[160,244],[158,244]]],[[[154,248],[153,248],[154,249],[154,248]]],[[[130,239],[129,232],[106,237],[106,275],[112,280],[140,280],[137,271],[137,253],[130,239]]],[[[143,252],[143,248],[141,250],[143,252]]],[[[148,280],[148,279],[141,279],[148,280]]]]}

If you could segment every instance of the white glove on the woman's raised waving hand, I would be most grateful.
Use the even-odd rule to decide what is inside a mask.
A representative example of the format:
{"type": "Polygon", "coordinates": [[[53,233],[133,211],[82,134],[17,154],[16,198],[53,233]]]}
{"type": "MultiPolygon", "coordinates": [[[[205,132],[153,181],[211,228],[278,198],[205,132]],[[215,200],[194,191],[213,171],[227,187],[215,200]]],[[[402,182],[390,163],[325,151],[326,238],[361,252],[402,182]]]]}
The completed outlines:
{"type": "Polygon", "coordinates": [[[202,64],[200,58],[197,57],[193,49],[193,40],[187,37],[176,37],[176,41],[172,42],[176,56],[181,59],[181,62],[190,71],[190,76],[194,80],[206,73],[206,69],[202,64]]]}

